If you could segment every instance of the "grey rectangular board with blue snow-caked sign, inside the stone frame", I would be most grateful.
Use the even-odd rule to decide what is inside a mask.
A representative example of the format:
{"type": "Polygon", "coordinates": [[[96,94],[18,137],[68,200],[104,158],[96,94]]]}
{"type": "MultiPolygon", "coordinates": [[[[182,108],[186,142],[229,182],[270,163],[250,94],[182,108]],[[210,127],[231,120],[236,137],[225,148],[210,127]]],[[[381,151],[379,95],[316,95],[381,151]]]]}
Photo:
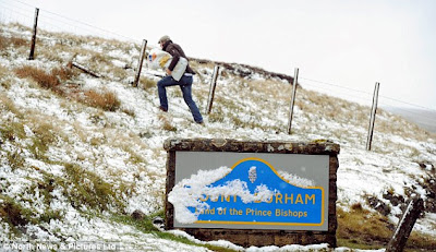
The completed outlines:
{"type": "Polygon", "coordinates": [[[328,229],[328,155],[175,152],[174,227],[328,229]]]}

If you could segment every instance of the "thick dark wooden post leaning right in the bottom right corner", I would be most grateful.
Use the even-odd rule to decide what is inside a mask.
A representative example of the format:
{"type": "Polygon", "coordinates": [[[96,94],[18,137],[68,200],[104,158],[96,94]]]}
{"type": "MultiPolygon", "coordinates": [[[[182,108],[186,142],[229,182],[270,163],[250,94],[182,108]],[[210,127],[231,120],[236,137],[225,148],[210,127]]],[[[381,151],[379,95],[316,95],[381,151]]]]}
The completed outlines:
{"type": "Polygon", "coordinates": [[[424,208],[423,200],[420,196],[414,196],[410,200],[408,208],[401,216],[401,219],[393,231],[392,238],[390,239],[386,252],[401,252],[404,249],[405,242],[410,236],[410,232],[415,225],[417,217],[424,208]]]}

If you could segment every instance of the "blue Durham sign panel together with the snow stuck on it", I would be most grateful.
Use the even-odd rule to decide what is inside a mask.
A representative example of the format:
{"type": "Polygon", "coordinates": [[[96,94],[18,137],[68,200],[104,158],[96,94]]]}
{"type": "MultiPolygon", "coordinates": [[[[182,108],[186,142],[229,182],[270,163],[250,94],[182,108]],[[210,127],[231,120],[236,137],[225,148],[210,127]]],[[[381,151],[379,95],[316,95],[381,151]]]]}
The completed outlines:
{"type": "MultiPolygon", "coordinates": [[[[264,159],[243,158],[222,178],[204,187],[196,187],[196,179],[181,181],[169,195],[179,223],[194,223],[198,226],[324,224],[324,188],[293,184],[295,181],[284,179],[264,159]]],[[[312,183],[310,180],[299,180],[304,184],[312,183]]]]}

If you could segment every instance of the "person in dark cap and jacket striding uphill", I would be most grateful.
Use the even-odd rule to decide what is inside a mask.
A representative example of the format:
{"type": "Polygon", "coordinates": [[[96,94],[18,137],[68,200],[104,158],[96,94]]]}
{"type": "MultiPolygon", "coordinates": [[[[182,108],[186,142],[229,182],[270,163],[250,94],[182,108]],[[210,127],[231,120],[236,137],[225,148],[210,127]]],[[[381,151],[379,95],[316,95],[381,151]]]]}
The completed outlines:
{"type": "Polygon", "coordinates": [[[184,51],[178,44],[172,43],[171,38],[167,35],[162,36],[159,39],[159,45],[164,51],[167,51],[172,56],[171,63],[166,69],[168,75],[157,82],[157,92],[159,94],[159,101],[160,101],[159,109],[165,112],[168,111],[168,98],[167,98],[166,87],[179,85],[183,94],[183,99],[186,103],[187,107],[190,108],[194,121],[196,123],[204,124],[202,113],[199,112],[195,101],[192,99],[192,83],[193,83],[193,75],[195,73],[190,68],[190,64],[186,65],[186,70],[179,81],[175,81],[171,76],[171,72],[174,69],[178,61],[180,60],[180,57],[183,57],[187,60],[186,56],[184,55],[184,51]]]}

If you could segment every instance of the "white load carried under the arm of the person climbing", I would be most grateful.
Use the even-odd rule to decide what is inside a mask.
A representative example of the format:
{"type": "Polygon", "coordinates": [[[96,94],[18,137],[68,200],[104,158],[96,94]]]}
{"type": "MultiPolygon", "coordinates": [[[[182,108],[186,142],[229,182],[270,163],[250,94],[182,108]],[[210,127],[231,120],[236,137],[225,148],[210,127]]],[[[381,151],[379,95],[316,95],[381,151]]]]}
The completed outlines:
{"type": "MultiPolygon", "coordinates": [[[[170,65],[172,60],[172,57],[170,53],[159,50],[157,48],[154,48],[150,50],[148,57],[147,57],[147,64],[148,68],[154,69],[154,70],[166,70],[170,65]]],[[[177,62],[174,69],[171,72],[171,76],[175,81],[180,81],[182,79],[184,71],[186,70],[187,67],[187,60],[183,57],[179,58],[179,61],[177,62]]]]}

